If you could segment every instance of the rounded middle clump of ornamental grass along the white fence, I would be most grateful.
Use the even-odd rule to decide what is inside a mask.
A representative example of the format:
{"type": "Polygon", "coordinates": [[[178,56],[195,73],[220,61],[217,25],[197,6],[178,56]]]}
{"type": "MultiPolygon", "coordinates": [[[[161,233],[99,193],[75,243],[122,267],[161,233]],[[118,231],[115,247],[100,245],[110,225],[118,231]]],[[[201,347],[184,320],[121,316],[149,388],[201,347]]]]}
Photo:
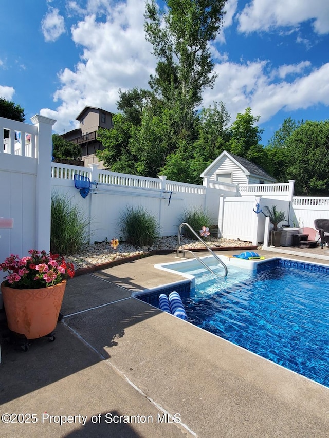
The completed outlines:
{"type": "Polygon", "coordinates": [[[152,246],[159,237],[159,223],[144,207],[126,207],[119,225],[126,242],[134,246],[152,246]]]}

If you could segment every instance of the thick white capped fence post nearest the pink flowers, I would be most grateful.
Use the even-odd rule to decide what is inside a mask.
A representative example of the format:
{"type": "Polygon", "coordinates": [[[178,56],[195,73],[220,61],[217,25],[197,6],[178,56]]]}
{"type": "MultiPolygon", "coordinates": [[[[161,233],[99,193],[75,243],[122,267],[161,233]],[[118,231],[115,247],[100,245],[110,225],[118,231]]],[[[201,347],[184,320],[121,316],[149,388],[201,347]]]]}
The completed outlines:
{"type": "Polygon", "coordinates": [[[35,249],[50,251],[51,210],[51,127],[56,120],[36,114],[31,117],[38,128],[36,139],[36,223],[35,249]]]}

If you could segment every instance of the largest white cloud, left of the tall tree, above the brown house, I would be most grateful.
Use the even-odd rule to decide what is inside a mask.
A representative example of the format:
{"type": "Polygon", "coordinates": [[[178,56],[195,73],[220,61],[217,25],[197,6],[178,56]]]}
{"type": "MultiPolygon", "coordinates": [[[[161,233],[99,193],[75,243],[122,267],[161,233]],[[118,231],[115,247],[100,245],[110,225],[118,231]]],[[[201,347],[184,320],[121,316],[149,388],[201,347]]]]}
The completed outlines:
{"type": "Polygon", "coordinates": [[[144,0],[128,0],[116,4],[107,21],[95,15],[86,16],[72,27],[72,39],[83,47],[81,60],[74,70],[59,73],[60,88],[54,101],[61,104],[56,111],[44,108],[41,114],[57,120],[54,129],[76,127],[75,118],[86,105],[117,111],[118,89],[148,87],[156,61],[152,46],[145,41],[144,0]]]}

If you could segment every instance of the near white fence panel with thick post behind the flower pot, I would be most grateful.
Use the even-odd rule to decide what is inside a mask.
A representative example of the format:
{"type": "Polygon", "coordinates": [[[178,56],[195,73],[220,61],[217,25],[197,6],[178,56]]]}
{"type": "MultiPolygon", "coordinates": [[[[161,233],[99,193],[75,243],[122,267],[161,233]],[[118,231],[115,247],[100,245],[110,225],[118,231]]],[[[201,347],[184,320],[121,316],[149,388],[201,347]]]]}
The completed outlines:
{"type": "MultiPolygon", "coordinates": [[[[10,254],[50,249],[51,126],[55,120],[36,115],[33,125],[0,117],[0,217],[13,228],[0,230],[0,263],[10,254]]],[[[4,278],[0,271],[0,281],[4,278]]]]}

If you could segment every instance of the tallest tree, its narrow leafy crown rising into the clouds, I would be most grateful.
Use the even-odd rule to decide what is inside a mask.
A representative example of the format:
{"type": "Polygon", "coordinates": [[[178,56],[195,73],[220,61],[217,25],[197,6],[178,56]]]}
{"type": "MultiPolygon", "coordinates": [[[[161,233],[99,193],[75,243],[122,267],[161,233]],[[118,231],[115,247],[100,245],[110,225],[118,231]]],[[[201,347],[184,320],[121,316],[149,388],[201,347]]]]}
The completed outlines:
{"type": "Polygon", "coordinates": [[[175,113],[177,136],[189,138],[194,111],[202,92],[216,78],[209,43],[223,21],[226,0],[167,0],[159,10],[155,0],[147,3],[145,32],[158,59],[149,84],[175,113]]]}

